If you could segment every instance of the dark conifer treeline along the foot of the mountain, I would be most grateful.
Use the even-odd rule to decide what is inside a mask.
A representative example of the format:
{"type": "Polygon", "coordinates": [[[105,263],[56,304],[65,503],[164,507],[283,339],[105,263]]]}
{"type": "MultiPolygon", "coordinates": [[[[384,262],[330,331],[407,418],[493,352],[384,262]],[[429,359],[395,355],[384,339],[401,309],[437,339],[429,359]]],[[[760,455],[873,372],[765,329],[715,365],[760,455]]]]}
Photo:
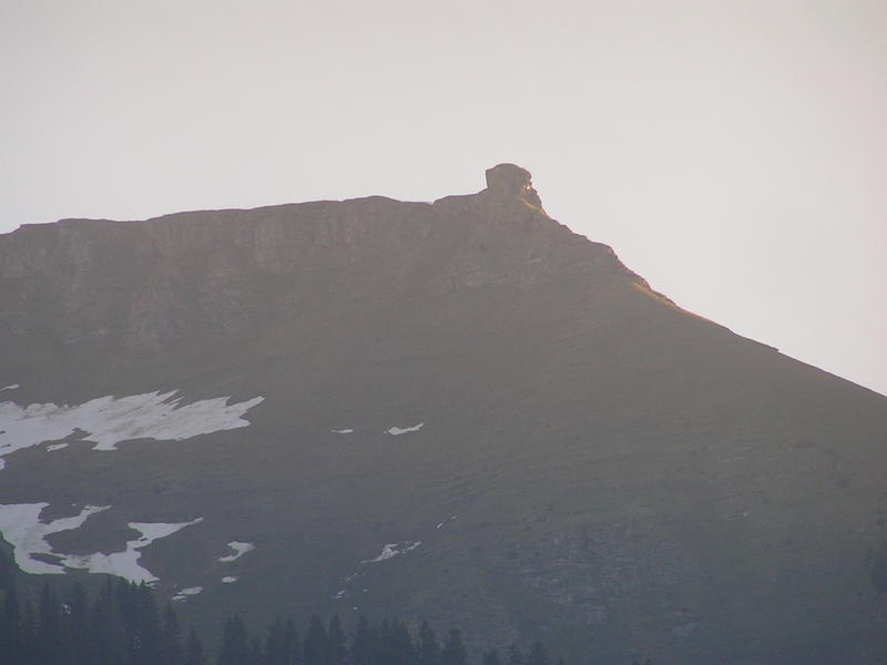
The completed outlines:
{"type": "MultiPolygon", "coordinates": [[[[287,618],[259,637],[233,615],[218,644],[207,654],[146,584],[109,580],[93,598],[79,583],[64,597],[44,584],[37,603],[21,601],[12,584],[3,592],[0,665],[469,665],[459,630],[439,640],[427,622],[414,635],[400,621],[360,618],[349,637],[337,616],[313,616],[303,632],[287,618]]],[[[554,664],[537,642],[526,653],[491,649],[479,665],[554,664]]]]}

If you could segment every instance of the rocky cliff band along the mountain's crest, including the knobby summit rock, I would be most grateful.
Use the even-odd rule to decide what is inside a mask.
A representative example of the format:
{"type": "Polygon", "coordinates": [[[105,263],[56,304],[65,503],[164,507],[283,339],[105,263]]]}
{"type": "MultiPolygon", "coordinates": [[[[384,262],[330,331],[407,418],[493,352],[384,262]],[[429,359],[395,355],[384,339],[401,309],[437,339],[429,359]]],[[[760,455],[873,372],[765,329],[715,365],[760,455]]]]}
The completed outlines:
{"type": "Polygon", "coordinates": [[[37,306],[64,317],[63,344],[160,349],[197,331],[254,335],[341,299],[624,273],[608,247],[544,214],[528,172],[499,165],[488,181],[434,204],[375,196],[26,226],[0,245],[2,334],[44,331],[37,306]]]}

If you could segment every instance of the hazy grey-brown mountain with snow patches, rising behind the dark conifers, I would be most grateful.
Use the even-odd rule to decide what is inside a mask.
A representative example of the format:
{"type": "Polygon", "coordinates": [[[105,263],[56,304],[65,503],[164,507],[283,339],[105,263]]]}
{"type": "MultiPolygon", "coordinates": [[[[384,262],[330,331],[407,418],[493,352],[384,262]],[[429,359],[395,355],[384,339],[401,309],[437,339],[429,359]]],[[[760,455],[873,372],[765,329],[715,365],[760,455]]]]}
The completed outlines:
{"type": "Polygon", "coordinates": [[[518,166],[23,226],[0,339],[26,573],[573,662],[887,657],[887,398],[676,307],[518,166]]]}

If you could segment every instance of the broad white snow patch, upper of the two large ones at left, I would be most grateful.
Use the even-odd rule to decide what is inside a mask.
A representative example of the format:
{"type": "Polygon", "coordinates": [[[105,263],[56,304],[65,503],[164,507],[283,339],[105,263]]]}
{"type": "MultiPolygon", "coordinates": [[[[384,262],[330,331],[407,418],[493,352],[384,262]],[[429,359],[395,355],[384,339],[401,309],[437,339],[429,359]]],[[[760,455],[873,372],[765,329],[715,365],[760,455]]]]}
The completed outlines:
{"type": "Polygon", "coordinates": [[[145,392],[120,399],[106,396],[74,407],[0,402],[0,458],[78,431],[83,432],[83,440],[95,443],[93,450],[116,450],[118,443],[133,439],[183,441],[247,427],[249,421],[242,416],[264,400],[254,397],[230,405],[228,397],[215,397],[182,405],[183,398],[174,398],[175,393],[145,392]]]}

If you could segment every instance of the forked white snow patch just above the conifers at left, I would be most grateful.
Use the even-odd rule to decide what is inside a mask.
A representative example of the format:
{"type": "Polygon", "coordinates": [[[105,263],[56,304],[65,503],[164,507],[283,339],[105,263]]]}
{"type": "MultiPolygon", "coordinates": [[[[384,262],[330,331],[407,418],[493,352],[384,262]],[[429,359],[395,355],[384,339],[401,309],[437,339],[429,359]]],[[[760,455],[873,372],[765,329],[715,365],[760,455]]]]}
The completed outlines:
{"type": "Polygon", "coordinates": [[[139,565],[140,550],[146,548],[155,540],[172,535],[176,531],[197,524],[203,518],[191,522],[167,524],[163,522],[130,522],[129,526],[142,535],[126,543],[123,552],[103,554],[64,554],[53,552],[45,541],[51,533],[71,531],[81,526],[90,515],[111,508],[110,505],[86,505],[80,514],[72,518],[53,520],[49,524],[40,521],[40,512],[49,503],[12,503],[0,504],[0,533],[3,540],[14,549],[18,566],[31,574],[64,574],[65,569],[86,569],[91,573],[109,573],[125,577],[131,582],[156,582],[157,577],[151,571],[139,565]],[[34,559],[34,554],[49,555],[55,562],[49,563],[34,559]]]}

